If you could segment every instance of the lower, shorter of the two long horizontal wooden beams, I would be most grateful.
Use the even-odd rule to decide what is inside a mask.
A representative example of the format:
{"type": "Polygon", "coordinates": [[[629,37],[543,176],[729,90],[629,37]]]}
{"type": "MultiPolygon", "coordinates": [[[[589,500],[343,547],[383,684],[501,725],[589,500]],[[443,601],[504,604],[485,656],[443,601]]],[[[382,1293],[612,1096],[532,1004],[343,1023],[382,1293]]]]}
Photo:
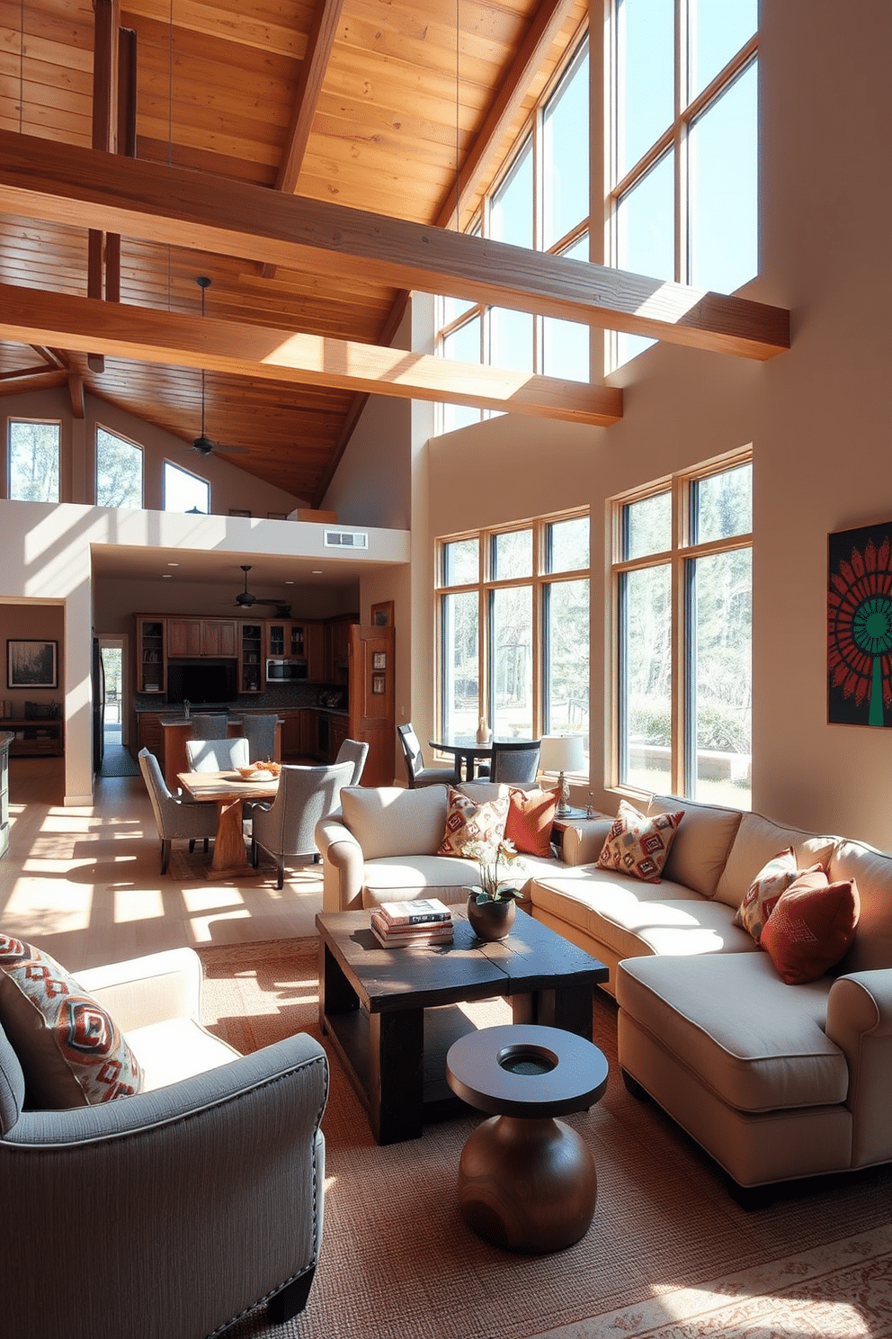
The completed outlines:
{"type": "Polygon", "coordinates": [[[0,339],[602,427],[622,416],[612,387],[8,284],[0,284],[0,339]]]}

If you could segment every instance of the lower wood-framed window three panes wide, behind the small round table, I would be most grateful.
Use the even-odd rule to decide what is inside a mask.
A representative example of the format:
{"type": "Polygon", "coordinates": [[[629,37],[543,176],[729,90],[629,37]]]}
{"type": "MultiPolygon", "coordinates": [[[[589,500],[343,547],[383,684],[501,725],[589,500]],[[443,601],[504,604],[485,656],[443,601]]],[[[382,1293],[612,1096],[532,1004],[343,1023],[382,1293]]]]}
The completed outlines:
{"type": "Polygon", "coordinates": [[[439,546],[445,738],[580,734],[588,753],[588,514],[439,546]]]}

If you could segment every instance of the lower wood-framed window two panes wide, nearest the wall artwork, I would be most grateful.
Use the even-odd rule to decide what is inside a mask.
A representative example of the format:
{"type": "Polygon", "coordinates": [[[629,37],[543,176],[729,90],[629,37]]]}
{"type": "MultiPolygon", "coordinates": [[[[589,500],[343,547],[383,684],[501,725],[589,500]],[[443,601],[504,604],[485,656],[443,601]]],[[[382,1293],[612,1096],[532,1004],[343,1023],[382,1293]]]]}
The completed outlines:
{"type": "Polygon", "coordinates": [[[752,462],[618,498],[614,781],[750,801],[752,462]]]}

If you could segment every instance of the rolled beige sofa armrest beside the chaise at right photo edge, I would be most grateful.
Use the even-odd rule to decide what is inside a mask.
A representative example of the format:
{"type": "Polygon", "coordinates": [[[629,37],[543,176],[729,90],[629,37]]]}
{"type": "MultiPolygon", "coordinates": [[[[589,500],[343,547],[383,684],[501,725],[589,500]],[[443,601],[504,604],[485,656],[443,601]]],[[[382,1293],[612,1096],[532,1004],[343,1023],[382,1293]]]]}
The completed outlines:
{"type": "Polygon", "coordinates": [[[892,968],[851,972],[830,987],[826,1035],[849,1067],[852,1166],[892,1158],[892,968]]]}

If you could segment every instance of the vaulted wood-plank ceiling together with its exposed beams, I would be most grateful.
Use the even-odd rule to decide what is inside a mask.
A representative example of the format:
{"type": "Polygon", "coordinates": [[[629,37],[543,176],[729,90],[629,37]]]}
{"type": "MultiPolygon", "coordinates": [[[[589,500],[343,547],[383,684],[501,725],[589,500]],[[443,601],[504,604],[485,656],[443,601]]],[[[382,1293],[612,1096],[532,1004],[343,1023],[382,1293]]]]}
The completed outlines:
{"type": "Polygon", "coordinates": [[[203,383],[221,454],[318,503],[369,392],[622,412],[604,387],[393,358],[415,287],[778,352],[785,312],[457,236],[586,12],[0,0],[0,395],[68,386],[79,414],[88,390],[190,443],[203,383]]]}

